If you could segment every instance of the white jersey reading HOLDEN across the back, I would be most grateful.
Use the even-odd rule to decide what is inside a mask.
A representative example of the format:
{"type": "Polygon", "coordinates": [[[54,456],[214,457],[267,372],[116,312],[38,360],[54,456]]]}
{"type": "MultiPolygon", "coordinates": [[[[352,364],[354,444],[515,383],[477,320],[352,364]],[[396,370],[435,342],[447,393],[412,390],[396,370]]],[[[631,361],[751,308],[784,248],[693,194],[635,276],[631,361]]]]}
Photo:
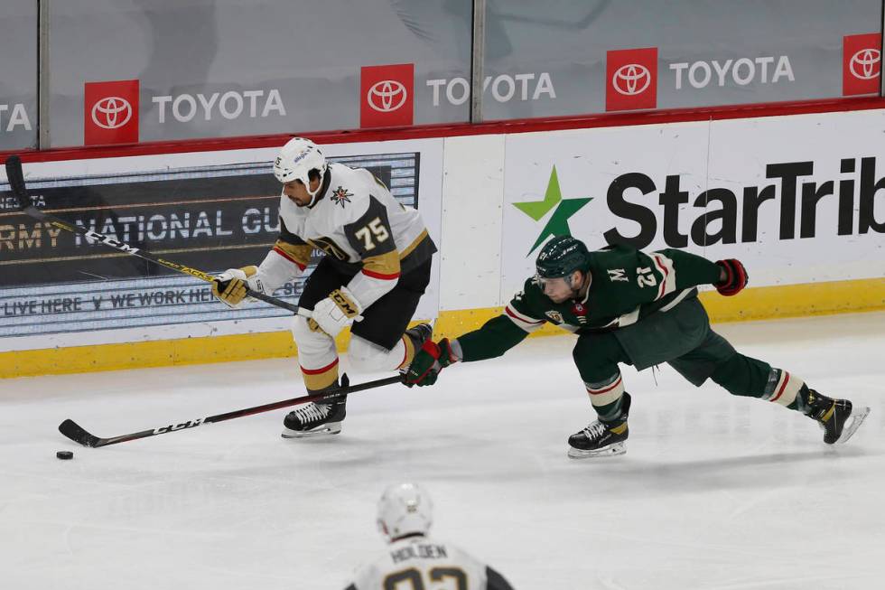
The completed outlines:
{"type": "Polygon", "coordinates": [[[387,546],[374,562],[359,568],[347,590],[512,590],[491,567],[451,543],[416,535],[387,546]]]}

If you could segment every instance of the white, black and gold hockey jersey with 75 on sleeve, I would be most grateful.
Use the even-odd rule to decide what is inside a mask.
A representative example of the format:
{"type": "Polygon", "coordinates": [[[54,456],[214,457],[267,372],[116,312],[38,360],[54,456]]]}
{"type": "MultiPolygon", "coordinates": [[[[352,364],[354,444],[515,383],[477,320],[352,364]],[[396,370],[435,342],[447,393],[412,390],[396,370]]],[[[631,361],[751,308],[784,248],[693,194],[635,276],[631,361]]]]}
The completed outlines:
{"type": "Polygon", "coordinates": [[[312,248],[356,274],[349,289],[364,307],[436,251],[418,211],[396,201],[368,170],[335,163],[329,164],[312,207],[280,197],[274,251],[303,270],[312,248]]]}

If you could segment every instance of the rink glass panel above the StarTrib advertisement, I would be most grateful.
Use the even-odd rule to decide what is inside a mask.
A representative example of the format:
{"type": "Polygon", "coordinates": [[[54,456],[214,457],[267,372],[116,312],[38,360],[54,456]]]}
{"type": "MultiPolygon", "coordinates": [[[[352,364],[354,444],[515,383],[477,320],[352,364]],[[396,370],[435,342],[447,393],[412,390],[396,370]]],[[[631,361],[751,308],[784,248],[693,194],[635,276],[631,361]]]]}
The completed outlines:
{"type": "Polygon", "coordinates": [[[607,54],[641,48],[657,49],[657,104],[645,108],[842,97],[843,39],[880,33],[881,11],[880,0],[489,2],[482,117],[622,110],[607,108],[607,54]]]}

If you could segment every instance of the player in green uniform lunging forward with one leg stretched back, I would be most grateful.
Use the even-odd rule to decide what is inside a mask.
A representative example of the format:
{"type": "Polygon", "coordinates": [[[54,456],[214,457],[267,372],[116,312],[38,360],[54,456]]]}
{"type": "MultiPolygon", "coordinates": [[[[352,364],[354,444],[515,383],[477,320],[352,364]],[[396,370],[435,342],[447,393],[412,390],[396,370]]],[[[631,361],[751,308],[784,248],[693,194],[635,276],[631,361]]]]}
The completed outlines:
{"type": "Polygon", "coordinates": [[[870,412],[827,398],[713,332],[696,286],[737,295],[747,285],[738,260],[714,263],[675,249],[646,254],[628,246],[588,252],[582,241],[558,236],[541,249],[536,270],[504,314],[457,340],[425,342],[406,385],[432,385],[456,361],[498,357],[550,322],[578,335],[573,358],[598,417],[569,437],[573,459],[626,453],[630,395],[619,363],[643,370],[667,362],[696,387],[713,379],[732,395],[797,410],[824,428],[828,445],[847,441],[870,412]]]}

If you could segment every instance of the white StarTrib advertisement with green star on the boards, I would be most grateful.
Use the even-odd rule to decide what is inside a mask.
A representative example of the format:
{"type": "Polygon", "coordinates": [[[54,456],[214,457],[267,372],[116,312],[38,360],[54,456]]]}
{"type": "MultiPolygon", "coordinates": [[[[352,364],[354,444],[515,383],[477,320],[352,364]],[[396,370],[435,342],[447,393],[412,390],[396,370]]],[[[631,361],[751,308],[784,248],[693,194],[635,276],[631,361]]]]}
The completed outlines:
{"type": "Polygon", "coordinates": [[[751,286],[885,276],[885,112],[508,136],[502,293],[570,234],[740,258],[751,286]]]}

